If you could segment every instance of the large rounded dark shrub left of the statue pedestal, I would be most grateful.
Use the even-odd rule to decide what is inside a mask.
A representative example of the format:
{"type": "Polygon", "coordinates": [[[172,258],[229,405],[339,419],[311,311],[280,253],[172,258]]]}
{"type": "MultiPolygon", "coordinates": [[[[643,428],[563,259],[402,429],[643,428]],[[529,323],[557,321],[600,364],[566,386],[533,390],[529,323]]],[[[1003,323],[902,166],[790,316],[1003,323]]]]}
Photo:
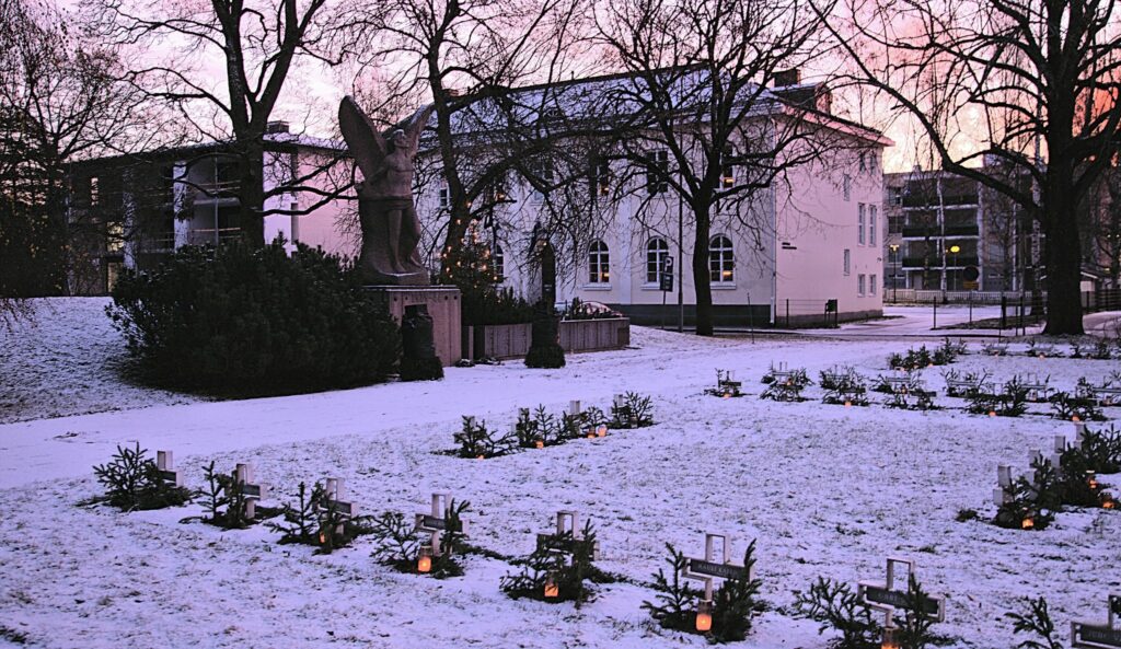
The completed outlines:
{"type": "Polygon", "coordinates": [[[223,396],[382,381],[400,356],[388,312],[341,258],[282,241],[185,247],[126,270],[106,307],[141,380],[223,396]]]}

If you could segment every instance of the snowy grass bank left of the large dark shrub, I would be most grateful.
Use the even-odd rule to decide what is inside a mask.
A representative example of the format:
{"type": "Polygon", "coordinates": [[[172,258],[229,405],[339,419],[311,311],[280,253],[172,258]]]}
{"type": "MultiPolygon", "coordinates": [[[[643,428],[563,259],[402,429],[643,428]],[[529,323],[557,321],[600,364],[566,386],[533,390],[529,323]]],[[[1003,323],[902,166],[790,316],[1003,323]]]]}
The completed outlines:
{"type": "Polygon", "coordinates": [[[198,400],[120,380],[124,339],[105,316],[111,302],[36,299],[34,317],[0,324],[0,424],[198,400]]]}

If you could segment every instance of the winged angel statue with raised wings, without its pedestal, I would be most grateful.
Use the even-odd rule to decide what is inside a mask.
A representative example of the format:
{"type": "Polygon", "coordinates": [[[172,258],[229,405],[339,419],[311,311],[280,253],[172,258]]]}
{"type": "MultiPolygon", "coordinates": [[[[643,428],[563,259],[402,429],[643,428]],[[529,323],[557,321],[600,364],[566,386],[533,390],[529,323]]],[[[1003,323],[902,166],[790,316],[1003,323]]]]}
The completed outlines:
{"type": "Polygon", "coordinates": [[[379,133],[353,98],[339,105],[339,126],[346,147],[362,170],[358,212],[362,225],[359,273],[368,284],[424,286],[428,269],[417,244],[420,223],[413,203],[413,159],[433,106],[379,133]]]}

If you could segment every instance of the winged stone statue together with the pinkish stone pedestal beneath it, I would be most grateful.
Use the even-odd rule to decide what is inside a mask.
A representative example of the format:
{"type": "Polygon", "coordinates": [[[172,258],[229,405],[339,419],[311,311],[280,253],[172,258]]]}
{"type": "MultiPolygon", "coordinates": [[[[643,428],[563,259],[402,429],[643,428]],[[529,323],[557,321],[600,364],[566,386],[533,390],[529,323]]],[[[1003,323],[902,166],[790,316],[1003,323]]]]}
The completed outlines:
{"type": "Polygon", "coordinates": [[[414,159],[432,111],[430,105],[421,106],[379,132],[348,96],[339,105],[339,126],[362,171],[358,185],[362,226],[359,272],[398,323],[407,306],[424,306],[411,310],[430,315],[436,354],[442,364],[451,365],[460,360],[460,291],[453,286],[429,286],[428,269],[417,251],[420,223],[413,202],[414,159]]]}

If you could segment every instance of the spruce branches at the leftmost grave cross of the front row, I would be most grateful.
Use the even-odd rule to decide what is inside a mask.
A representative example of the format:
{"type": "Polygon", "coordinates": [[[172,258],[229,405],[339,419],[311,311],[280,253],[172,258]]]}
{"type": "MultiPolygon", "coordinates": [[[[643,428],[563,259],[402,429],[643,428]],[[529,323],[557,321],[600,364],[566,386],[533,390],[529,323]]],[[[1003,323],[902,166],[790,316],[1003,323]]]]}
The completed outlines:
{"type": "Polygon", "coordinates": [[[188,489],[164,480],[148,451],[118,446],[105,464],[93,467],[98,482],[105,486],[104,501],[123,511],[164,509],[191,501],[188,489]]]}

